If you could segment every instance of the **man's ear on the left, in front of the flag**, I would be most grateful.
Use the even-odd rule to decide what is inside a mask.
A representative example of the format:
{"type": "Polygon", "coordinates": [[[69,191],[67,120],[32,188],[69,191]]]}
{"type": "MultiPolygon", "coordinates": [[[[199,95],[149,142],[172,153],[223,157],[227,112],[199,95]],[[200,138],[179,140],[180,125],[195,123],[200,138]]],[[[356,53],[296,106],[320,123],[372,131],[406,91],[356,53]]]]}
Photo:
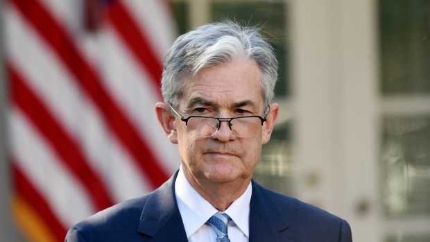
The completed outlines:
{"type": "Polygon", "coordinates": [[[178,132],[175,129],[175,117],[171,114],[170,108],[166,103],[158,102],[155,104],[157,119],[166,133],[167,139],[173,144],[178,144],[178,132]]]}

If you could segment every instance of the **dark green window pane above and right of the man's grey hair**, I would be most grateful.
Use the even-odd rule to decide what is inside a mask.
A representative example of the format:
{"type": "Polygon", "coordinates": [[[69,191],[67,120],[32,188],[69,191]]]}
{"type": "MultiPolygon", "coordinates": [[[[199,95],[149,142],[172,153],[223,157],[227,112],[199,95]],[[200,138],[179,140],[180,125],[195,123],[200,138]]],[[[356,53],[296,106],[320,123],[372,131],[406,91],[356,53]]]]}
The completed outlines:
{"type": "Polygon", "coordinates": [[[289,76],[286,75],[287,49],[284,1],[216,1],[211,4],[212,21],[235,19],[247,26],[261,26],[264,36],[272,44],[279,62],[279,83],[275,95],[289,94],[289,76]]]}

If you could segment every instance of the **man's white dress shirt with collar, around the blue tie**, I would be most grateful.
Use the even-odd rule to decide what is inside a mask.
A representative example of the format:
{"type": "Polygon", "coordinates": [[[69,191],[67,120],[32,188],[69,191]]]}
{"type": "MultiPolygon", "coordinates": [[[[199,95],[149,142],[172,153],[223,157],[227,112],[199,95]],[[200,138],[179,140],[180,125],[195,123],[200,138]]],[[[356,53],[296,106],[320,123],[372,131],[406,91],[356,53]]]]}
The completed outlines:
{"type": "MultiPolygon", "coordinates": [[[[224,211],[225,214],[232,218],[227,227],[228,237],[231,242],[249,241],[251,194],[252,185],[250,183],[246,191],[224,211]]],[[[175,181],[175,196],[188,241],[216,242],[216,233],[205,223],[218,210],[191,187],[191,184],[185,178],[182,166],[175,181]]]]}

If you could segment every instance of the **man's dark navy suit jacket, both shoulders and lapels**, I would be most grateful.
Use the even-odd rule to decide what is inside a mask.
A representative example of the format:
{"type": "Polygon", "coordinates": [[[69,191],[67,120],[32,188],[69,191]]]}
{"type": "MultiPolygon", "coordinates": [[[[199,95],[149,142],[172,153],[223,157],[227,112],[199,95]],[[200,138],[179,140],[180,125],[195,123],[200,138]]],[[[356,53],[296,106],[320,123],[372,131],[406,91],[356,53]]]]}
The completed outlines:
{"type": "MultiPolygon", "coordinates": [[[[121,202],[78,223],[65,241],[187,241],[175,198],[177,174],[145,196],[121,202]]],[[[250,242],[352,241],[350,225],[343,219],[254,181],[249,236],[250,242]]]]}

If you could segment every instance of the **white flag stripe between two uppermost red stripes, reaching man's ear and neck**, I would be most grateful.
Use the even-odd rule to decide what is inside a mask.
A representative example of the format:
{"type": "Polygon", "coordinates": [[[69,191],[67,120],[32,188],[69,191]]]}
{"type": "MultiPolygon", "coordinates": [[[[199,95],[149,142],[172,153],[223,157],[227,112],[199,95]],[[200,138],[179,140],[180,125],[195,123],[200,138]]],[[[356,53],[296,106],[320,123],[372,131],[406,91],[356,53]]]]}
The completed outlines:
{"type": "Polygon", "coordinates": [[[132,61],[130,50],[124,48],[114,31],[105,29],[100,40],[101,53],[105,53],[107,60],[100,63],[105,86],[132,118],[141,137],[148,140],[151,150],[161,157],[165,171],[173,173],[179,167],[180,158],[176,146],[167,141],[155,115],[155,101],[159,99],[157,89],[146,72],[132,61]]]}

